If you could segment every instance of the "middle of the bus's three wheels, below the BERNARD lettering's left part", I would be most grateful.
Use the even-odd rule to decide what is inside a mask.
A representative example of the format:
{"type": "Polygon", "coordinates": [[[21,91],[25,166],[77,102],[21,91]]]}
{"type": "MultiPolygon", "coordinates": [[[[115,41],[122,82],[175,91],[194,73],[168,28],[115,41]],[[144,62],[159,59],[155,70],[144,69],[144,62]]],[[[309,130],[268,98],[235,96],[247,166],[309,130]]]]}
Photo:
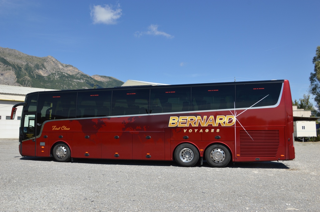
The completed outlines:
{"type": "Polygon", "coordinates": [[[199,160],[199,152],[189,143],[180,144],[174,151],[174,158],[180,166],[191,167],[199,160]]]}

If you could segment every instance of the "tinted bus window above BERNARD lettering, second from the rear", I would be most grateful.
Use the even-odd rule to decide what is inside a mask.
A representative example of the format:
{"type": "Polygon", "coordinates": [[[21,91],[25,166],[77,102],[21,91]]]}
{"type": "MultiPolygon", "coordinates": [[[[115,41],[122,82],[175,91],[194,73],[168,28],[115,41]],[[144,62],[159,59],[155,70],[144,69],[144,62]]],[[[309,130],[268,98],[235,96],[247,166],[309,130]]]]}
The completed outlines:
{"type": "Polygon", "coordinates": [[[193,110],[234,108],[234,85],[206,85],[192,87],[193,110]]]}

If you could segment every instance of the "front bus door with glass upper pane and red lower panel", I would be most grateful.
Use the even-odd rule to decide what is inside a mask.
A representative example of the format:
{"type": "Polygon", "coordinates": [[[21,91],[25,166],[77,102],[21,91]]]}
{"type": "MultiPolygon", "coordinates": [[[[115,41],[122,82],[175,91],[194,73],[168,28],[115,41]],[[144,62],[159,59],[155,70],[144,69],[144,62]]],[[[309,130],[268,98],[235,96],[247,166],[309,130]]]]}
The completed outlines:
{"type": "Polygon", "coordinates": [[[21,123],[20,137],[22,144],[20,152],[23,156],[36,156],[36,113],[24,113],[21,123]]]}

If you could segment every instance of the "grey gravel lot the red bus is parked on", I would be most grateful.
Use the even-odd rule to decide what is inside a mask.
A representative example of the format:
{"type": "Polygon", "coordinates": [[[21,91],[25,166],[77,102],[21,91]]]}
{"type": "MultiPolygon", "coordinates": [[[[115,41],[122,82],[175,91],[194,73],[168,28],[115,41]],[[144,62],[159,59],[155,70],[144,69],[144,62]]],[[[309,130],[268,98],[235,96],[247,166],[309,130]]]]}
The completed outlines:
{"type": "Polygon", "coordinates": [[[320,143],[292,161],[179,167],[175,161],[21,157],[0,140],[0,211],[319,211],[320,143]],[[2,209],[1,209],[2,208],[2,209]]]}

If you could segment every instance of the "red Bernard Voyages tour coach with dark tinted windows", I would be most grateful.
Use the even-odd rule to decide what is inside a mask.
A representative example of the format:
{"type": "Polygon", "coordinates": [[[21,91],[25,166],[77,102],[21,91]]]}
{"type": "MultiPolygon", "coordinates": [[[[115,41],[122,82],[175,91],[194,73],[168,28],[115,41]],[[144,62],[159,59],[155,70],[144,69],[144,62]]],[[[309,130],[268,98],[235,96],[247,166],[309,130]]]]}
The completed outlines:
{"type": "Polygon", "coordinates": [[[21,156],[187,167],[295,157],[288,80],[33,92],[12,118],[17,106],[21,156]]]}

